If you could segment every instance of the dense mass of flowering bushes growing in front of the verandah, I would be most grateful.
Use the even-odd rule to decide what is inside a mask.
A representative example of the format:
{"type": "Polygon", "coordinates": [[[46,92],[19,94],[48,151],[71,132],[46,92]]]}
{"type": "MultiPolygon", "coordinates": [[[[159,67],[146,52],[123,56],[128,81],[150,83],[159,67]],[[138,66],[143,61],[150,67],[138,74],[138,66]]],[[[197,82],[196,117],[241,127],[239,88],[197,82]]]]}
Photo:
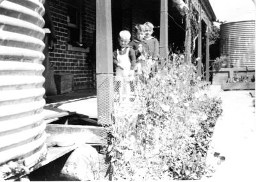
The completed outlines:
{"type": "Polygon", "coordinates": [[[136,82],[140,110],[117,112],[107,158],[111,179],[200,179],[221,100],[210,98],[193,64],[172,57],[136,82]]]}

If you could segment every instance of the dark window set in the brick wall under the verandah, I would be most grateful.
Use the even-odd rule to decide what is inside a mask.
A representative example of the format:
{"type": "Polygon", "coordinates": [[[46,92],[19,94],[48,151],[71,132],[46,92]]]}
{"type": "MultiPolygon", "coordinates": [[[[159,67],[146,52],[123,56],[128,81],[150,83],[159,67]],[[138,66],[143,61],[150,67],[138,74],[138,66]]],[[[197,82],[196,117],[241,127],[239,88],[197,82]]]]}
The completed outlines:
{"type": "Polygon", "coordinates": [[[68,1],[68,44],[82,47],[81,0],[68,1]]]}

